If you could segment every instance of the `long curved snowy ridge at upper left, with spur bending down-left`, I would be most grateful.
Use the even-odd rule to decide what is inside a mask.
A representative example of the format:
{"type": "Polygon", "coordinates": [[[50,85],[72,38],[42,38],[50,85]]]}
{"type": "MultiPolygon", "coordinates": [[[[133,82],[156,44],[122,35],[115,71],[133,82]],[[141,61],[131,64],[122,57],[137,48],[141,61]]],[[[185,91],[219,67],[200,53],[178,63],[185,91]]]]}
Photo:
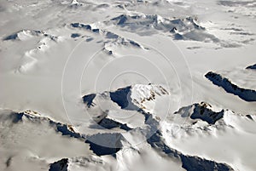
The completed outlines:
{"type": "MultiPolygon", "coordinates": [[[[20,61],[17,62],[17,67],[15,68],[16,73],[26,73],[27,71],[32,70],[35,68],[38,63],[41,61],[40,57],[44,56],[44,53],[49,51],[54,45],[58,46],[62,40],[65,42],[70,41],[70,39],[76,38],[86,38],[86,42],[90,42],[94,39],[94,37],[84,36],[84,32],[82,29],[86,31],[90,31],[92,33],[96,33],[96,35],[100,35],[104,41],[103,44],[103,51],[108,54],[114,54],[114,50],[119,48],[119,46],[131,47],[131,48],[143,48],[143,45],[137,43],[131,39],[127,39],[125,37],[120,37],[119,35],[111,32],[105,31],[102,29],[97,28],[96,26],[92,25],[84,25],[80,23],[72,23],[68,27],[59,28],[57,31],[57,35],[61,36],[54,36],[49,34],[48,32],[54,32],[52,30],[49,31],[37,31],[37,30],[22,30],[17,31],[7,37],[3,38],[3,41],[8,43],[9,41],[24,41],[29,43],[29,41],[34,42],[34,47],[30,49],[26,49],[25,53],[21,56],[20,61]],[[79,28],[80,31],[73,32],[76,28],[79,28]]],[[[86,32],[85,32],[86,34],[86,32]]],[[[39,66],[40,67],[40,66],[39,66]]]]}

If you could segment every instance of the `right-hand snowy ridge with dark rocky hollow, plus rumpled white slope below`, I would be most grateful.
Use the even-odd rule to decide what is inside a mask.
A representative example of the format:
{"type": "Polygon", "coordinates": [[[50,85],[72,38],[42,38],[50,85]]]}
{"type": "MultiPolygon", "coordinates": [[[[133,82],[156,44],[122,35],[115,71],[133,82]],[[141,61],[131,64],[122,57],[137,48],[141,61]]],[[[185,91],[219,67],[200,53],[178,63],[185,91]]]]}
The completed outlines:
{"type": "Polygon", "coordinates": [[[177,140],[198,134],[218,136],[221,131],[229,128],[250,132],[254,120],[255,115],[241,115],[201,102],[181,107],[161,123],[161,130],[166,134],[165,137],[177,140]],[[245,123],[249,125],[249,129],[243,127],[245,123]]]}

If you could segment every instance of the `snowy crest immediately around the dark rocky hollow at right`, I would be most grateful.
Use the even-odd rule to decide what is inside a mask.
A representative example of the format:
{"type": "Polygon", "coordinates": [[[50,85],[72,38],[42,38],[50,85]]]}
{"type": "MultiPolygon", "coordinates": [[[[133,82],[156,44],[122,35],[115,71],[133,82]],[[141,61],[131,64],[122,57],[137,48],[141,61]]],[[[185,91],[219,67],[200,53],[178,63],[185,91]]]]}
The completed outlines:
{"type": "Polygon", "coordinates": [[[173,123],[191,131],[196,131],[197,128],[211,131],[212,128],[222,129],[230,125],[236,128],[236,123],[232,122],[236,117],[237,121],[250,120],[254,122],[255,120],[255,115],[240,115],[229,109],[217,109],[207,102],[201,102],[181,107],[164,121],[164,125],[173,123]]]}

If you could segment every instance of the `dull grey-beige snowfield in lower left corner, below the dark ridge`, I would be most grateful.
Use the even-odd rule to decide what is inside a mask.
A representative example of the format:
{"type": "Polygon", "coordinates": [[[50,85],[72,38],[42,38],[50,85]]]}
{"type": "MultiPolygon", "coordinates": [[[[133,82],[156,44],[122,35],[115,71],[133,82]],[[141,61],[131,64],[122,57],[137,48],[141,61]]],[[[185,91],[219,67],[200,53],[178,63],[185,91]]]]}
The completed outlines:
{"type": "Polygon", "coordinates": [[[55,132],[46,120],[22,117],[22,121],[14,123],[10,112],[1,111],[1,170],[48,169],[48,163],[57,158],[91,153],[89,145],[55,132]]]}

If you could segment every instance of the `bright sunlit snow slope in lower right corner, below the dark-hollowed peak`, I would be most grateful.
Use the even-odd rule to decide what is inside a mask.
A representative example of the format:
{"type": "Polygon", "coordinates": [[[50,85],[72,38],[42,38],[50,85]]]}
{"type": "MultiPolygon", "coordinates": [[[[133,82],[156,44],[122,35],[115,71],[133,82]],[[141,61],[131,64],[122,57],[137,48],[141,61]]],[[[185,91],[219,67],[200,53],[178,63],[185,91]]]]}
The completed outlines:
{"type": "Polygon", "coordinates": [[[253,120],[232,111],[224,111],[224,117],[214,125],[200,122],[193,124],[188,119],[183,123],[177,121],[178,119],[174,119],[174,122],[161,124],[167,145],[184,154],[197,154],[199,157],[228,163],[235,170],[255,168],[253,159],[241,159],[253,155],[251,151],[255,143],[253,120]],[[239,159],[237,159],[238,154],[241,155],[239,159]]]}

